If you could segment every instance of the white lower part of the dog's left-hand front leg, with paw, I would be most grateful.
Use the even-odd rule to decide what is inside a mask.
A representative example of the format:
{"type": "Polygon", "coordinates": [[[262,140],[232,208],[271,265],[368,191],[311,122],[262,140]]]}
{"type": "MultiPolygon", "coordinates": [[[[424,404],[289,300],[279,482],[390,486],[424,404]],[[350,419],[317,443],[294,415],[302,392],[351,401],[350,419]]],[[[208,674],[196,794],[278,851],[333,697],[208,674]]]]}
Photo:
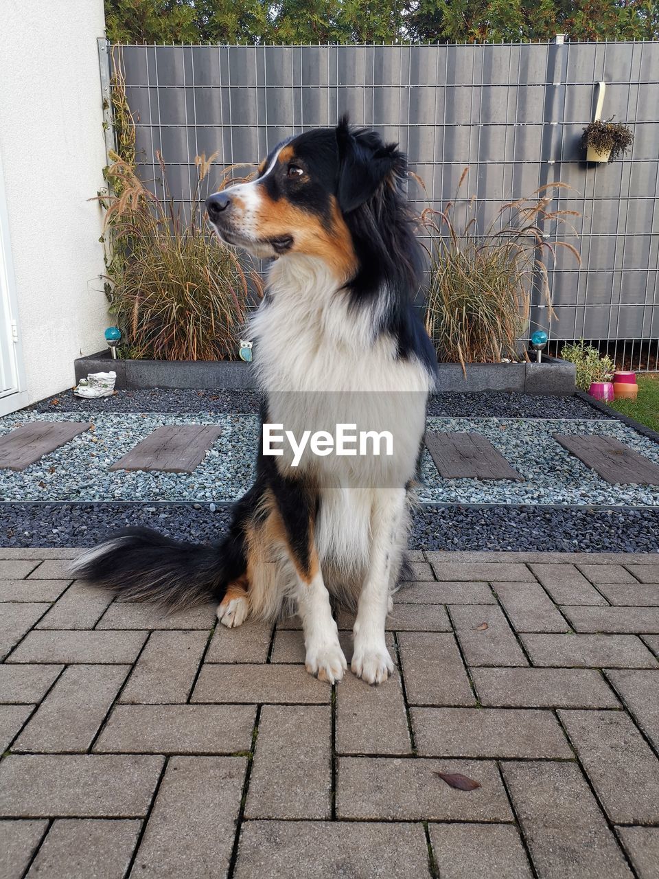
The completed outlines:
{"type": "Polygon", "coordinates": [[[295,598],[304,631],[307,671],[333,684],[343,678],[348,664],[338,643],[337,623],[329,607],[329,592],[320,568],[309,582],[299,578],[295,598]]]}

